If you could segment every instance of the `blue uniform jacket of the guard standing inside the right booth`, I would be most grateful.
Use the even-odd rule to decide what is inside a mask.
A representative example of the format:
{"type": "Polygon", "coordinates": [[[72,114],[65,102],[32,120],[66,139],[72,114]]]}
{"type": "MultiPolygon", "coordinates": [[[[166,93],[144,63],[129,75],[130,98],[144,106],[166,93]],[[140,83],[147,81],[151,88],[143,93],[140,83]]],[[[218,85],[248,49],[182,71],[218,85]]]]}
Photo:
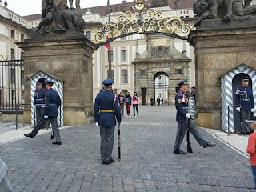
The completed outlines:
{"type": "Polygon", "coordinates": [[[241,105],[242,110],[251,110],[254,108],[254,96],[253,91],[249,86],[238,86],[235,92],[235,104],[241,105]]]}

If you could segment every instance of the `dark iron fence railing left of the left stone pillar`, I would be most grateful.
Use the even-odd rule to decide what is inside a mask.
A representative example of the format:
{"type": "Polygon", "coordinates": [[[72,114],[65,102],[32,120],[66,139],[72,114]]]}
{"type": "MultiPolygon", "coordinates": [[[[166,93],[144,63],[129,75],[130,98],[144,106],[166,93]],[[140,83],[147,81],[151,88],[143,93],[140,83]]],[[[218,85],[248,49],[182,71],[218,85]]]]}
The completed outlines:
{"type": "Polygon", "coordinates": [[[24,62],[0,61],[0,111],[23,109],[24,62]]]}

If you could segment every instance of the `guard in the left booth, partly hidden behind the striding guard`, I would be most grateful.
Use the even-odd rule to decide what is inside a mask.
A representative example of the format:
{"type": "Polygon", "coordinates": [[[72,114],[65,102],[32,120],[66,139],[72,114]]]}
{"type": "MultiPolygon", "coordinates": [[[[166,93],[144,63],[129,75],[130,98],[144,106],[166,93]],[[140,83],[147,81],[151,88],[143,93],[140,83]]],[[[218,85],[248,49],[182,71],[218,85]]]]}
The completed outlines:
{"type": "Polygon", "coordinates": [[[37,89],[34,90],[34,106],[35,106],[35,114],[36,114],[36,120],[37,123],[39,122],[41,116],[42,116],[42,112],[43,112],[43,108],[42,106],[45,105],[45,94],[46,90],[42,89],[42,82],[38,81],[37,82],[37,89]]]}

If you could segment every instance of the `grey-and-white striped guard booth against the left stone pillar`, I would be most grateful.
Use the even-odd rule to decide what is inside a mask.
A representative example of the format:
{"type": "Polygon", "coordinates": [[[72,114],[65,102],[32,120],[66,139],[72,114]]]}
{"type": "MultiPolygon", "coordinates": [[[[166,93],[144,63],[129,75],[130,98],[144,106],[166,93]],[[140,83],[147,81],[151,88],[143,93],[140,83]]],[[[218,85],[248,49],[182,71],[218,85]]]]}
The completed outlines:
{"type": "Polygon", "coordinates": [[[58,77],[55,74],[46,73],[42,70],[34,74],[28,80],[31,81],[31,126],[35,126],[35,109],[33,105],[34,101],[34,90],[36,89],[36,83],[40,78],[45,78],[54,82],[53,89],[58,92],[59,97],[61,98],[62,105],[58,108],[58,126],[63,126],[63,82],[64,80],[58,77]]]}

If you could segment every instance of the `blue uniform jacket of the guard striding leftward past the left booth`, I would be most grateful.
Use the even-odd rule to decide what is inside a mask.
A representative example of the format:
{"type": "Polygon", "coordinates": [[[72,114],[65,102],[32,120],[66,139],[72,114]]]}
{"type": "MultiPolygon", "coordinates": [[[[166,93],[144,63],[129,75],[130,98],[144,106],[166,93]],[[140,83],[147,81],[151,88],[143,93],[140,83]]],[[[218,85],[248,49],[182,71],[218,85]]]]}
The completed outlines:
{"type": "Polygon", "coordinates": [[[57,117],[58,107],[61,106],[61,103],[62,103],[58,93],[52,88],[47,90],[45,94],[45,102],[46,102],[46,108],[43,115],[47,115],[49,117],[57,117]]]}

